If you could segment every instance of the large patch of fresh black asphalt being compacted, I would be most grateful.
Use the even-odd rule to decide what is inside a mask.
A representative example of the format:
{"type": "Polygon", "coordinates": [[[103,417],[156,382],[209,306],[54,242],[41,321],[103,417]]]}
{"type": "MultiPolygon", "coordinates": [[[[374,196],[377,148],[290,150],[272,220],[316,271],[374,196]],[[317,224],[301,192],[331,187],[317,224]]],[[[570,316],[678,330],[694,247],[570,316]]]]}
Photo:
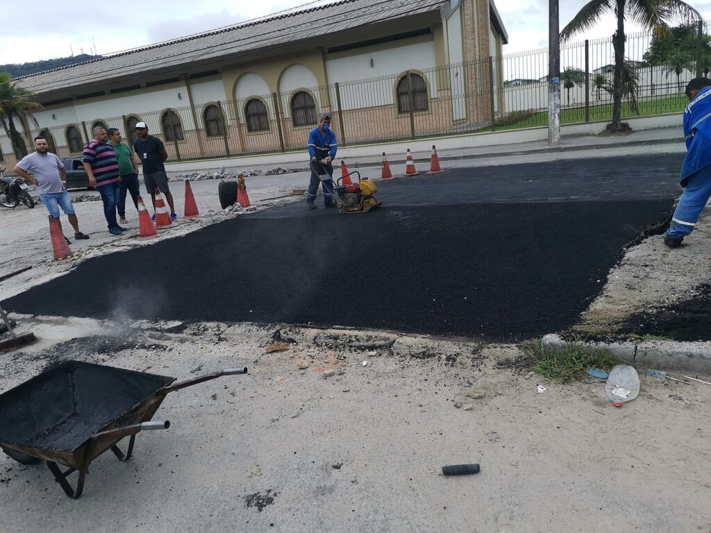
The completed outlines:
{"type": "Polygon", "coordinates": [[[11,311],[254,321],[518,341],[573,325],[679,195],[680,156],[461,168],[380,183],[383,207],[302,203],[97,257],[11,311]]]}

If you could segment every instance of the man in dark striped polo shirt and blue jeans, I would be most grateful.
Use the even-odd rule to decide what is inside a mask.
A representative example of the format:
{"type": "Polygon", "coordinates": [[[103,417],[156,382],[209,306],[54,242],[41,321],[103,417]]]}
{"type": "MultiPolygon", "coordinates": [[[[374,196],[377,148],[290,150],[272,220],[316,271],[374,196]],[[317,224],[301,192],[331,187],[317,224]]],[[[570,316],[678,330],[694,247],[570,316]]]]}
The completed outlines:
{"type": "Polygon", "coordinates": [[[104,200],[104,216],[111,235],[126,231],[116,222],[116,206],[119,202],[119,161],[109,144],[109,136],[101,126],[94,128],[94,140],[84,149],[84,170],[89,176],[89,185],[96,188],[104,200]]]}

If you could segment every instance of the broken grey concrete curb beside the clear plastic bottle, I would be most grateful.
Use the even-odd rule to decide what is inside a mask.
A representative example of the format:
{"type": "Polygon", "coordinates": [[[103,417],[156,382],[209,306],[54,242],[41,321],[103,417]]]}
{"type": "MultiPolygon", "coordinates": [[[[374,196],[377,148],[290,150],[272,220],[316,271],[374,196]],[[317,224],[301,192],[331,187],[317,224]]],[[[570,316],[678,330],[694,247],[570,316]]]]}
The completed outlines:
{"type": "MultiPolygon", "coordinates": [[[[555,353],[565,352],[567,342],[557,333],[544,335],[544,350],[555,353]]],[[[678,372],[711,372],[711,343],[676,342],[673,340],[631,340],[613,343],[577,342],[586,353],[607,350],[615,357],[632,364],[654,370],[675,370],[678,372]]]]}

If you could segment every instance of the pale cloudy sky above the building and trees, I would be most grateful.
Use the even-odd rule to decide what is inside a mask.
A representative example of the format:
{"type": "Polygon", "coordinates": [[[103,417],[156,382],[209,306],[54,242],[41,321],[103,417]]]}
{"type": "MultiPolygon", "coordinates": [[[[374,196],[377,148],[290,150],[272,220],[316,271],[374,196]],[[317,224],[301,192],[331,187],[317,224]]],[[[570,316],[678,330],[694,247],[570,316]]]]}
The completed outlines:
{"type": "MultiPolygon", "coordinates": [[[[36,0],[6,2],[0,32],[0,64],[58,58],[73,53],[106,54],[191,33],[228,26],[302,5],[306,0],[124,0],[86,2],[36,0]],[[31,9],[29,7],[31,6],[31,9]]],[[[316,2],[312,2],[314,4],[316,2]]],[[[323,2],[319,2],[323,3],[323,2]]],[[[582,0],[560,0],[560,27],[584,6],[582,0]]],[[[689,1],[706,20],[711,0],[689,1]]],[[[508,31],[504,53],[547,46],[548,0],[496,0],[508,31]]],[[[318,33],[314,21],[314,33],[318,33]]],[[[629,31],[635,31],[629,25],[629,31]]],[[[584,38],[609,37],[614,20],[604,19],[584,38]]],[[[576,39],[577,40],[577,39],[576,39]]]]}

